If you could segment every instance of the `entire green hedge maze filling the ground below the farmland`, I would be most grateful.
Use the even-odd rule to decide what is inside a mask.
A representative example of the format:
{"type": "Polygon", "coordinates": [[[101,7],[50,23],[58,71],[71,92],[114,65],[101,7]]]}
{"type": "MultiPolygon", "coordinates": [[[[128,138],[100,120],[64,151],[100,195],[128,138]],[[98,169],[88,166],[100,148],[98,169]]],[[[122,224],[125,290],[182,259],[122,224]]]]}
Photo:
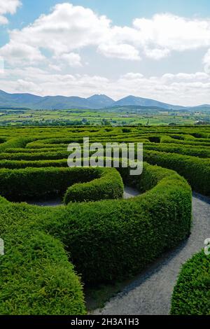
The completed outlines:
{"type": "MultiPolygon", "coordinates": [[[[4,127],[0,137],[0,314],[85,314],[84,285],[127,279],[178,246],[190,235],[192,189],[210,196],[209,127],[4,127]],[[69,168],[67,146],[83,137],[144,143],[143,173],[69,168]],[[139,196],[124,200],[123,183],[139,196]],[[58,207],[27,204],[57,196],[58,207]]],[[[183,267],[173,314],[210,311],[203,283],[194,303],[195,263],[209,268],[203,252],[183,267]]]]}

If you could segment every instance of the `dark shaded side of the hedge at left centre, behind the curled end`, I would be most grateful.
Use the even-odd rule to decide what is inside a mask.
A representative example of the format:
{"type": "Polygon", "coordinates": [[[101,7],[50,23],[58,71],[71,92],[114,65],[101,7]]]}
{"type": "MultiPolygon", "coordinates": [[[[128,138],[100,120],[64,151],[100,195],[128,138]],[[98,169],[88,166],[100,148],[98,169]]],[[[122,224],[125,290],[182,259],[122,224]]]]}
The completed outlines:
{"type": "Polygon", "coordinates": [[[97,168],[26,168],[0,170],[0,195],[12,201],[62,196],[78,181],[99,177],[97,168]]]}

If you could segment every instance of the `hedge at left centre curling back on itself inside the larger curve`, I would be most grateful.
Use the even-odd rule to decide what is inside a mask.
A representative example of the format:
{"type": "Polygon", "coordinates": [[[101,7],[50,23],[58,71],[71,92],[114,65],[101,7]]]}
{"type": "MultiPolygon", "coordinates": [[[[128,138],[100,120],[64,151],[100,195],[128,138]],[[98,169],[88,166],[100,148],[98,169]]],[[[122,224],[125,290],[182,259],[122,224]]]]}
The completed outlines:
{"type": "Polygon", "coordinates": [[[123,181],[114,168],[0,169],[0,195],[11,201],[62,197],[67,188],[69,190],[64,197],[66,203],[70,200],[82,201],[86,198],[87,200],[101,200],[123,196],[123,181]],[[92,182],[83,184],[88,181],[92,182]],[[83,183],[73,185],[78,182],[83,183]],[[88,188],[92,195],[88,193],[88,188]]]}

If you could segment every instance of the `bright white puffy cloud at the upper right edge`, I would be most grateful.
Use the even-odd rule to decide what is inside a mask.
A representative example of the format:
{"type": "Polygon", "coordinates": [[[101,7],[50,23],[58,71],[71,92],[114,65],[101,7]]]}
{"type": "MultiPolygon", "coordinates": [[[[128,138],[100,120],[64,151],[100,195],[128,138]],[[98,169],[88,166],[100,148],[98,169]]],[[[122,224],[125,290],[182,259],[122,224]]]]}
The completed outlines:
{"type": "Polygon", "coordinates": [[[210,45],[210,20],[188,19],[172,14],[156,14],[133,22],[139,43],[168,50],[188,50],[210,45]]]}

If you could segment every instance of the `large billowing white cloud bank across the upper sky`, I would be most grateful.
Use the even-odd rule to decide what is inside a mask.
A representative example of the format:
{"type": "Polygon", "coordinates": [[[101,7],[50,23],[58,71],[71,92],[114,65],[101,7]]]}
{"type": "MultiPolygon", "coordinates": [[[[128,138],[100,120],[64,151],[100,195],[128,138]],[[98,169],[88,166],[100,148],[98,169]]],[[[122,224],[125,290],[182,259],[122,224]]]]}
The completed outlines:
{"type": "MultiPolygon", "coordinates": [[[[0,3],[4,1],[0,0],[0,3]]],[[[10,0],[9,3],[13,3],[13,7],[2,9],[0,15],[6,10],[13,13],[20,1],[10,0]]],[[[23,45],[36,52],[32,57],[40,58],[45,49],[52,57],[69,64],[74,62],[75,66],[81,65],[77,52],[85,47],[94,47],[109,58],[137,61],[146,56],[158,60],[169,56],[172,51],[210,47],[210,20],[162,13],[150,19],[136,18],[130,27],[120,27],[90,8],[58,3],[49,14],[41,15],[31,25],[10,31],[10,42],[5,46],[7,60],[13,63],[13,48],[18,50],[20,46],[22,49],[23,45]],[[10,56],[10,52],[13,55],[10,56]]],[[[1,48],[0,55],[3,51],[1,48]]]]}

